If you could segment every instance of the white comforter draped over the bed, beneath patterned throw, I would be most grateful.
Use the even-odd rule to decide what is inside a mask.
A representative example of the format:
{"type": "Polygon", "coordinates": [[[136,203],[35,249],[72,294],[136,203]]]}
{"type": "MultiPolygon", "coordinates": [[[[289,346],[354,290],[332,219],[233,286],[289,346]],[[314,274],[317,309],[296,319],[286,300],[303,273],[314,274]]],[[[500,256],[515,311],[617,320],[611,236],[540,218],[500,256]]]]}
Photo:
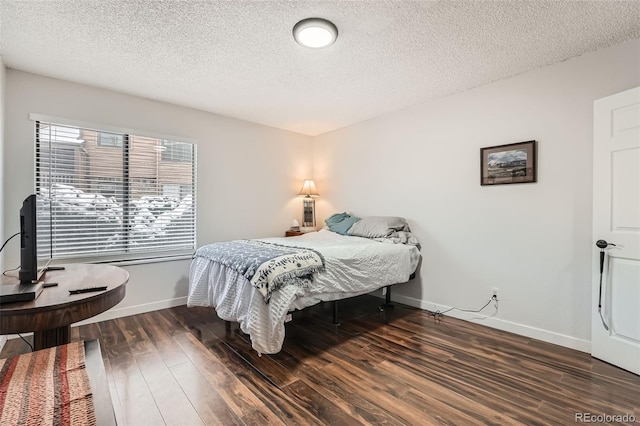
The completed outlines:
{"type": "Polygon", "coordinates": [[[328,230],[264,241],[315,249],[325,258],[325,271],[314,275],[311,288],[283,286],[266,304],[251,283],[236,271],[195,257],[187,305],[211,306],[223,320],[238,322],[241,330],[250,335],[253,348],[266,354],[282,348],[289,311],[406,282],[420,257],[414,246],[343,236],[328,230]]]}

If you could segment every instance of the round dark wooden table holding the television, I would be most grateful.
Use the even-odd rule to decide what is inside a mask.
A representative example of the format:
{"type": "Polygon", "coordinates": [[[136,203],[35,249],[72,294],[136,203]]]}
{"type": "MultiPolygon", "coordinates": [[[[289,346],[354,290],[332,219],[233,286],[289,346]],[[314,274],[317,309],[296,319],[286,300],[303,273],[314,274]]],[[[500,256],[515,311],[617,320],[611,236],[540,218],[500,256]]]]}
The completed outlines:
{"type": "MultiPolygon", "coordinates": [[[[71,324],[91,318],[117,305],[125,295],[129,273],[112,265],[70,264],[64,271],[48,271],[44,282],[58,286],[42,290],[29,302],[0,305],[0,334],[33,331],[34,350],[69,343],[71,324]],[[107,286],[104,291],[69,294],[69,290],[107,286]]],[[[2,284],[18,279],[2,276],[2,284]]]]}

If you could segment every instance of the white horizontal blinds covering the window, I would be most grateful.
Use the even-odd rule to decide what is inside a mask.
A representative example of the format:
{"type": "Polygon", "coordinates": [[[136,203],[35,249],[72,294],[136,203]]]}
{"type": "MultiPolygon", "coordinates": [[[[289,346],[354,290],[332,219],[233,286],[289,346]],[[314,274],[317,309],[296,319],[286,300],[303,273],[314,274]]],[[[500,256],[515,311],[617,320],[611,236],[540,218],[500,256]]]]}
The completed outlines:
{"type": "Polygon", "coordinates": [[[192,254],[195,183],[193,143],[36,121],[38,257],[192,254]]]}

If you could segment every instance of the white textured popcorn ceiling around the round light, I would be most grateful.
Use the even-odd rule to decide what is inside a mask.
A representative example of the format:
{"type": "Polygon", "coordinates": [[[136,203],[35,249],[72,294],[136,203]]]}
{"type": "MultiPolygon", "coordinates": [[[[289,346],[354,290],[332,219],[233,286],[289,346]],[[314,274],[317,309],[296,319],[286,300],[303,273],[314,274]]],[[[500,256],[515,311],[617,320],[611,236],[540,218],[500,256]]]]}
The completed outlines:
{"type": "Polygon", "coordinates": [[[0,0],[9,68],[308,135],[639,37],[640,1],[0,0]]]}

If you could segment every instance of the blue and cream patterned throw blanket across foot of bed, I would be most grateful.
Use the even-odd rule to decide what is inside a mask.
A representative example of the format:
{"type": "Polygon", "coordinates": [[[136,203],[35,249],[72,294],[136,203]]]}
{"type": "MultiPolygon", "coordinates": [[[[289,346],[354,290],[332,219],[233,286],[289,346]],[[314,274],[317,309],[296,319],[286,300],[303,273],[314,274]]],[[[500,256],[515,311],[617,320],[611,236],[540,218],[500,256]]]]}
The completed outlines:
{"type": "Polygon", "coordinates": [[[283,285],[309,286],[324,270],[324,258],[313,249],[259,240],[236,240],[200,247],[195,256],[220,263],[242,274],[266,303],[283,285]]]}

